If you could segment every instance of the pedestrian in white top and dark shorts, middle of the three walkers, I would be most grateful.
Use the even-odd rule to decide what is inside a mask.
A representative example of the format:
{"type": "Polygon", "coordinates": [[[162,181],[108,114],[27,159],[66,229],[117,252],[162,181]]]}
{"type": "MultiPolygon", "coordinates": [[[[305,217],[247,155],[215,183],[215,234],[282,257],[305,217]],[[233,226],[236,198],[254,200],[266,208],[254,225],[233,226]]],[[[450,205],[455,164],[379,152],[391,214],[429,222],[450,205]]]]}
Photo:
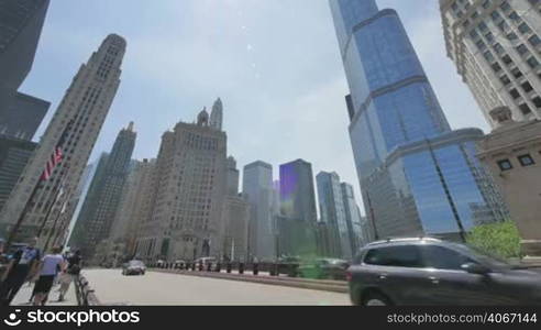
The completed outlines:
{"type": "Polygon", "coordinates": [[[53,283],[58,274],[64,272],[65,261],[58,246],[53,248],[52,253],[43,257],[38,278],[35,284],[34,306],[45,305],[45,299],[53,287],[53,283]]]}

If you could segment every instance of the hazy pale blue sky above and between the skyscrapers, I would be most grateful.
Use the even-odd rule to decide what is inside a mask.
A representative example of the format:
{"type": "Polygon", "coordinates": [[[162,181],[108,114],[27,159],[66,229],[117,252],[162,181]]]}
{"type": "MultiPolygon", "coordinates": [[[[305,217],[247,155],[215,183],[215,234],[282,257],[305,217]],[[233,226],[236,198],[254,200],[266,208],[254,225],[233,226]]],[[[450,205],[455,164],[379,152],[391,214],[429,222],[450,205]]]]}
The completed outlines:
{"type": "MultiPolygon", "coordinates": [[[[438,1],[379,0],[398,11],[454,129],[488,131],[446,57],[438,1]]],[[[128,41],[121,86],[90,162],[135,122],[134,158],[220,97],[228,154],[240,169],[303,158],[352,184],[364,213],[347,127],[349,94],[328,0],[51,1],[21,90],[52,102],[44,132],[79,66],[110,33],[128,41]]],[[[241,185],[242,186],[242,185],[241,185]]]]}

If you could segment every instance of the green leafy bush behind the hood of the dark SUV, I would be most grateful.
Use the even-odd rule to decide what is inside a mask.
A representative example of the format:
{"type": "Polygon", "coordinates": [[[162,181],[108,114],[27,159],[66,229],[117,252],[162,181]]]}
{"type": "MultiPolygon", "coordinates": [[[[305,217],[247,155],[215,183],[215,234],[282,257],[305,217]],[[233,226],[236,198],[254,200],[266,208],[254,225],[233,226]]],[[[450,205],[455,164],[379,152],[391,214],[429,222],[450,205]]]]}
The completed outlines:
{"type": "Polygon", "coordinates": [[[475,227],[466,241],[489,255],[501,258],[522,256],[519,231],[511,221],[475,227]]]}

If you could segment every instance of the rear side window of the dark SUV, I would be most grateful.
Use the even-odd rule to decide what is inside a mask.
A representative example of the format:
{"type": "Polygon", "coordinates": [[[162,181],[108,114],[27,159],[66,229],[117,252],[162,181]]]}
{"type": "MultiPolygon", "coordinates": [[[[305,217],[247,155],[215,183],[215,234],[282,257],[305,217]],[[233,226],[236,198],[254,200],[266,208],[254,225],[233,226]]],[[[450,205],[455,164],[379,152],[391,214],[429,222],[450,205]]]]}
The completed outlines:
{"type": "Polygon", "coordinates": [[[373,249],[366,253],[364,262],[368,265],[395,267],[421,267],[419,248],[415,245],[373,249]]]}

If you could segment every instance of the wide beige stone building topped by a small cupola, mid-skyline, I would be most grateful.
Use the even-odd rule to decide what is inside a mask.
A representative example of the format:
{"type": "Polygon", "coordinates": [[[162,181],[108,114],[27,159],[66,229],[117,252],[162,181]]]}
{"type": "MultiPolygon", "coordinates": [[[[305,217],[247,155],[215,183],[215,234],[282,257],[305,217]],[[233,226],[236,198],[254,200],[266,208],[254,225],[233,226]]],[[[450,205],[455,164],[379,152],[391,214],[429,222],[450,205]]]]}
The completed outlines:
{"type": "Polygon", "coordinates": [[[192,260],[223,254],[227,134],[210,125],[179,122],[162,136],[156,162],[154,207],[137,241],[141,257],[192,260]]]}

